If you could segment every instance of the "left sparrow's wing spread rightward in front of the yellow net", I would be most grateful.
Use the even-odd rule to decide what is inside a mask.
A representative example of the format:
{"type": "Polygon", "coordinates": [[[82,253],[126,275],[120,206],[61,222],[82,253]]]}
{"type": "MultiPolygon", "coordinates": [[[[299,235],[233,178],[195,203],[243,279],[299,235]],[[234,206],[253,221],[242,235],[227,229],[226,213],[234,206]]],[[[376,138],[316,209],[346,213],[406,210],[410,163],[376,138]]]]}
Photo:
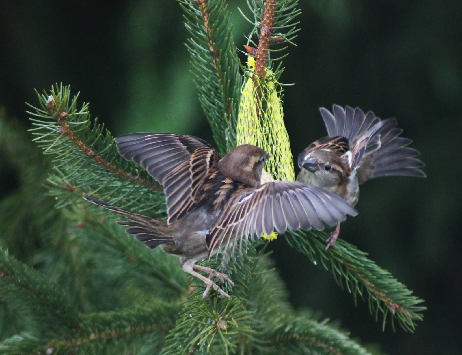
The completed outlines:
{"type": "Polygon", "coordinates": [[[247,240],[274,230],[304,231],[313,226],[323,230],[358,212],[344,199],[314,186],[292,181],[274,181],[258,188],[244,189],[225,208],[206,237],[209,255],[223,243],[247,240]]]}

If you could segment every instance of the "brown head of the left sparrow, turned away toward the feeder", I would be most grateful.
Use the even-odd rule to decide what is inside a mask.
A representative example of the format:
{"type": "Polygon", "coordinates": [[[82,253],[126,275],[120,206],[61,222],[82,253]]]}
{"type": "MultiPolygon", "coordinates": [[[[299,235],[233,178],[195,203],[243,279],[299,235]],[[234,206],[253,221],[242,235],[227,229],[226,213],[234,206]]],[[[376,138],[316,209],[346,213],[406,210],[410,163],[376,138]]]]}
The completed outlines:
{"type": "Polygon", "coordinates": [[[218,170],[225,177],[251,187],[260,185],[263,165],[269,154],[250,144],[237,146],[218,162],[218,170]]]}

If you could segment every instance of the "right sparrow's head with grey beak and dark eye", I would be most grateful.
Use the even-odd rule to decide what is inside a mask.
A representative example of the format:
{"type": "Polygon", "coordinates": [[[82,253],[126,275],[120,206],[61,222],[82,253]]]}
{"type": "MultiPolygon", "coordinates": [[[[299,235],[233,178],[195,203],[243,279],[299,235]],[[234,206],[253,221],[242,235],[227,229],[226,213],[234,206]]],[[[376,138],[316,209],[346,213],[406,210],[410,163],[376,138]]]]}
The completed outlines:
{"type": "Polygon", "coordinates": [[[336,153],[327,150],[305,149],[298,155],[298,167],[301,169],[298,180],[319,187],[332,187],[340,184],[346,174],[345,160],[336,153]]]}

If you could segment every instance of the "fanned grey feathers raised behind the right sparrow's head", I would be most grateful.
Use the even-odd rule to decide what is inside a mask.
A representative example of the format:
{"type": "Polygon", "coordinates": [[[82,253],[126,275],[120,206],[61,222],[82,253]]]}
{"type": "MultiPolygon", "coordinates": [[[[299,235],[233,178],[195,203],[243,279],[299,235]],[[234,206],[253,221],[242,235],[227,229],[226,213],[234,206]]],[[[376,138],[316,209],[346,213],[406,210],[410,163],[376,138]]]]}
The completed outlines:
{"type": "Polygon", "coordinates": [[[358,107],[333,105],[333,114],[319,109],[328,135],[341,135],[350,141],[351,165],[359,167],[359,184],[383,176],[413,176],[425,178],[419,168],[425,164],[415,157],[420,152],[407,147],[412,140],[399,137],[395,118],[381,120],[372,111],[365,114],[358,107]]]}

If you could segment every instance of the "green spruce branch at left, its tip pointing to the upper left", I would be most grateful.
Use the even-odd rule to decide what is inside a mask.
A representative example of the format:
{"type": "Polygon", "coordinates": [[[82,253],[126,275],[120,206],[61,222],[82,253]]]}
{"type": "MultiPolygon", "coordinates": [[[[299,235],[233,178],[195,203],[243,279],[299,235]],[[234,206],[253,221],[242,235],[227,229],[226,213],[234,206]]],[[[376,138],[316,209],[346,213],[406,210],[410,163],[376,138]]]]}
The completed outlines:
{"type": "MultiPolygon", "coordinates": [[[[56,85],[49,95],[39,95],[40,107],[28,104],[34,111],[31,118],[32,134],[36,135],[39,147],[44,154],[54,156],[54,174],[49,177],[52,190],[69,192],[98,193],[113,199],[113,203],[122,200],[127,205],[127,196],[141,193],[139,198],[131,200],[131,207],[139,210],[164,207],[161,187],[146,171],[139,170],[133,162],[118,155],[114,140],[97,119],[91,120],[88,104],[77,108],[79,95],[71,99],[69,86],[56,85]]],[[[57,192],[59,195],[59,192],[57,192]]],[[[62,207],[75,201],[73,198],[61,198],[62,207]]],[[[61,196],[62,197],[62,196],[61,196]]]]}

